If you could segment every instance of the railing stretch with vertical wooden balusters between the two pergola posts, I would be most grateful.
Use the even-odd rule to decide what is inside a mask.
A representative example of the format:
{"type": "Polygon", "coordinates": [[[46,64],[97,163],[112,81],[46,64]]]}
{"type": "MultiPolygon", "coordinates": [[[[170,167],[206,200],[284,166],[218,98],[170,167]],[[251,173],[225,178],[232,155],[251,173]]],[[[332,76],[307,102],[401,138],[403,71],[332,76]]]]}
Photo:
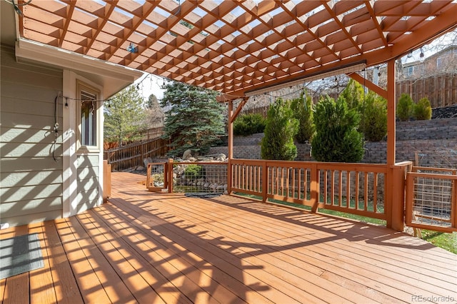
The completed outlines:
{"type": "Polygon", "coordinates": [[[231,160],[231,190],[387,220],[382,164],[231,160]],[[265,185],[265,186],[264,186],[265,185]]]}

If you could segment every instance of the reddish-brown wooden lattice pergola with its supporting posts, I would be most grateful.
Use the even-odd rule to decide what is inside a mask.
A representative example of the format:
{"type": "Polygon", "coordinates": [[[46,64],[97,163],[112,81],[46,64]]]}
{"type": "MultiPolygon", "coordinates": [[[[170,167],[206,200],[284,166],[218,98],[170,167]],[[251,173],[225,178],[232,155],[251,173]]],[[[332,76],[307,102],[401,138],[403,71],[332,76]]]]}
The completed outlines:
{"type": "MultiPolygon", "coordinates": [[[[348,74],[388,100],[389,168],[396,163],[395,60],[457,26],[455,0],[16,4],[22,39],[219,91],[219,101],[229,102],[230,122],[246,96],[312,77],[348,74]],[[387,88],[353,73],[386,63],[387,88]],[[233,100],[240,98],[233,112],[233,100]]],[[[229,159],[231,138],[229,123],[229,159]]]]}

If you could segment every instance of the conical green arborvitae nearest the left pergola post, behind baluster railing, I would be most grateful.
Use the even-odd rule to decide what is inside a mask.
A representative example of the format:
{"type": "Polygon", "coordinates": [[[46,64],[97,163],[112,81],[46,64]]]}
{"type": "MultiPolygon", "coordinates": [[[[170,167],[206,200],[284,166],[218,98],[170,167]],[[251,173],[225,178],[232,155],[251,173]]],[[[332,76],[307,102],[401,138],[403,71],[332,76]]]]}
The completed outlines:
{"type": "Polygon", "coordinates": [[[278,98],[268,109],[261,142],[262,158],[293,161],[297,156],[297,147],[293,143],[297,131],[298,121],[293,118],[289,102],[278,98]]]}

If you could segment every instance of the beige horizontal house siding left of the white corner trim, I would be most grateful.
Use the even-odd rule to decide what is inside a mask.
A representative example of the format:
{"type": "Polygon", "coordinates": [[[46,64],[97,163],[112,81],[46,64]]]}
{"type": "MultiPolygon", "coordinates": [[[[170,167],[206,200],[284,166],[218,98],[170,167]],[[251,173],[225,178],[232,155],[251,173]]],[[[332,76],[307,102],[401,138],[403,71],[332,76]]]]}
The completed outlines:
{"type": "MultiPolygon", "coordinates": [[[[61,127],[54,132],[54,100],[62,83],[61,70],[17,63],[14,48],[1,46],[1,223],[62,216],[61,127]]],[[[61,114],[59,102],[59,126],[61,114]]]]}

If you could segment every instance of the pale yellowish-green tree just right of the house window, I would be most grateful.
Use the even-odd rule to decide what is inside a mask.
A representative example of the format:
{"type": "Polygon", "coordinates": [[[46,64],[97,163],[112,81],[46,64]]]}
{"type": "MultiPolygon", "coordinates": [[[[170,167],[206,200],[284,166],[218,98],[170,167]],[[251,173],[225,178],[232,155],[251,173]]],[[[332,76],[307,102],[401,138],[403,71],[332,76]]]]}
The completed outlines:
{"type": "Polygon", "coordinates": [[[108,142],[122,143],[141,139],[146,128],[144,99],[136,86],[116,93],[104,104],[104,138],[108,142]]]}

